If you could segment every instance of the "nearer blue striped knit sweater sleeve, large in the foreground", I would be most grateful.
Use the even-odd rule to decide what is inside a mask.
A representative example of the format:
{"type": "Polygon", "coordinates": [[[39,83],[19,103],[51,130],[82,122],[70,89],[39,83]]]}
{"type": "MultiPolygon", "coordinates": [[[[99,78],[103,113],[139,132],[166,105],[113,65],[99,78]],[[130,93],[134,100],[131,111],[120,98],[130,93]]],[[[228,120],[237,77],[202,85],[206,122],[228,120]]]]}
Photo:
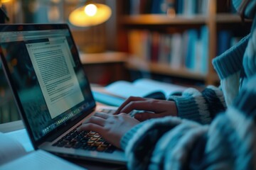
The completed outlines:
{"type": "Polygon", "coordinates": [[[210,125],[147,120],[121,140],[129,169],[256,169],[256,76],[210,125]]]}

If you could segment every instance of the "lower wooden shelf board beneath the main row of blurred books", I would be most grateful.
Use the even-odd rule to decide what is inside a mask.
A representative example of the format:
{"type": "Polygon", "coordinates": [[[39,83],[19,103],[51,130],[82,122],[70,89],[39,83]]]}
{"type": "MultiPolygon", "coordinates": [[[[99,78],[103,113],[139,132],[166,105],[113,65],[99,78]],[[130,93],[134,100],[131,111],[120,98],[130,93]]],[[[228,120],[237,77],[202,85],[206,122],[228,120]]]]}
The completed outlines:
{"type": "Polygon", "coordinates": [[[165,74],[186,79],[196,79],[199,81],[206,80],[206,74],[190,72],[186,68],[172,69],[168,64],[144,62],[142,60],[137,60],[134,58],[129,58],[129,60],[127,60],[127,68],[156,74],[165,74]]]}

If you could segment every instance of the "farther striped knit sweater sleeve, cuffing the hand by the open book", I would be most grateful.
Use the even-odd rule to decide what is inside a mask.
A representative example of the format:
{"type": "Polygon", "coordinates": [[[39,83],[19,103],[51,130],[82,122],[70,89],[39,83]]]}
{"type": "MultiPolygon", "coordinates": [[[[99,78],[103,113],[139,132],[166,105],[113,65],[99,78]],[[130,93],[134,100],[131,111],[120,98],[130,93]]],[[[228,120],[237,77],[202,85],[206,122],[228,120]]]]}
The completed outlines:
{"type": "Polygon", "coordinates": [[[223,92],[215,86],[203,91],[189,88],[182,96],[170,96],[169,101],[176,102],[178,117],[202,124],[210,123],[217,113],[226,109],[223,92]]]}

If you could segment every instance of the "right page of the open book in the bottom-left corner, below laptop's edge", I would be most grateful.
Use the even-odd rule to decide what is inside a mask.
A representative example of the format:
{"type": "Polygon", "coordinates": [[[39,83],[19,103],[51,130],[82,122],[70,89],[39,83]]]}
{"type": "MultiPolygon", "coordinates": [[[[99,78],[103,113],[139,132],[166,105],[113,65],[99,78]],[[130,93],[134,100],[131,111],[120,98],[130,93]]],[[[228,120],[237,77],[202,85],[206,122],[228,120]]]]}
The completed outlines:
{"type": "Polygon", "coordinates": [[[72,169],[81,170],[80,166],[72,164],[65,159],[61,159],[43,150],[37,150],[24,157],[20,157],[13,162],[0,166],[0,170],[26,169],[26,170],[45,170],[45,169],[72,169]]]}

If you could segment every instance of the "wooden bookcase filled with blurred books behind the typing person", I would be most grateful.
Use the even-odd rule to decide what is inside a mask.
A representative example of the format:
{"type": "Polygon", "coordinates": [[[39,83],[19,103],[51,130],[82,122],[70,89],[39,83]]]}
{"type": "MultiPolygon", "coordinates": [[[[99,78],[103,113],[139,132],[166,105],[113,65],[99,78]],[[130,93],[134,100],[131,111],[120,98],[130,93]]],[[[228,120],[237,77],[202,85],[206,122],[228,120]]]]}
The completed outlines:
{"type": "MultiPolygon", "coordinates": [[[[154,1],[154,0],[152,0],[154,1]]],[[[176,0],[177,1],[177,0],[176,0]]],[[[190,4],[193,6],[193,3],[189,0],[182,0],[183,3],[190,4]],[[188,3],[189,2],[189,3],[188,3]]],[[[193,0],[191,0],[193,1],[193,0]]],[[[225,33],[230,33],[230,39],[232,38],[233,44],[235,43],[235,40],[238,40],[242,36],[246,35],[250,32],[250,21],[245,21],[245,23],[242,23],[240,16],[238,16],[236,13],[230,12],[229,8],[223,7],[226,6],[227,1],[223,0],[202,0],[204,1],[205,6],[202,6],[204,12],[198,12],[193,14],[188,13],[178,13],[176,16],[167,16],[165,13],[131,13],[131,3],[134,1],[132,0],[125,0],[122,2],[119,2],[118,5],[122,6],[122,8],[119,10],[119,20],[118,20],[118,26],[119,26],[119,49],[129,52],[130,57],[129,60],[127,60],[127,68],[137,71],[145,71],[149,73],[154,74],[162,74],[167,75],[169,77],[181,77],[183,79],[194,79],[194,80],[200,80],[203,81],[205,85],[208,84],[218,84],[219,79],[218,75],[215,73],[213,66],[211,64],[213,58],[220,54],[220,47],[218,45],[218,42],[222,40],[223,37],[225,37],[225,33]],[[127,5],[129,4],[129,5],[127,5]],[[129,7],[127,7],[129,6],[129,7]],[[129,8],[129,9],[127,9],[129,8]],[[178,67],[175,67],[175,64],[170,64],[170,60],[163,60],[162,62],[159,62],[159,53],[158,53],[158,59],[153,59],[152,56],[149,57],[148,55],[152,53],[152,48],[154,47],[152,44],[154,43],[154,34],[158,34],[159,40],[161,40],[162,37],[165,36],[172,36],[180,34],[183,38],[184,36],[187,36],[186,34],[188,32],[191,32],[191,30],[194,30],[198,33],[198,36],[201,36],[203,34],[203,29],[206,30],[205,37],[206,40],[202,40],[198,38],[198,42],[196,44],[200,44],[200,46],[196,46],[196,52],[193,53],[193,57],[191,57],[190,60],[193,62],[193,69],[191,67],[188,67],[189,64],[187,64],[188,60],[188,52],[186,55],[179,55],[178,57],[182,57],[181,61],[179,62],[178,67]],[[151,45],[148,47],[147,51],[144,50],[144,55],[142,55],[142,51],[134,51],[134,47],[131,47],[131,43],[134,44],[135,48],[140,47],[141,49],[144,49],[145,46],[139,46],[139,44],[143,44],[144,42],[141,42],[141,40],[138,39],[139,33],[137,35],[135,34],[135,38],[131,38],[131,33],[133,31],[138,31],[142,33],[142,36],[145,36],[144,34],[147,34],[150,36],[149,39],[144,40],[145,43],[151,41],[151,45]],[[225,31],[224,31],[225,30],[225,31]],[[240,30],[238,32],[238,30],[240,30]],[[220,35],[220,33],[223,33],[223,35],[220,35]],[[233,40],[234,39],[234,40],[233,40]],[[207,42],[206,42],[207,41],[207,42]],[[125,43],[127,42],[127,43],[125,43]],[[205,50],[203,55],[198,55],[198,52],[201,52],[205,50]],[[201,57],[197,57],[201,56],[201,57]],[[198,62],[202,62],[201,66],[198,65],[198,62]],[[202,66],[204,65],[204,66],[202,66]],[[175,68],[174,68],[175,67],[175,68]],[[203,67],[201,69],[198,69],[198,67],[203,67]]],[[[137,0],[137,5],[139,3],[145,2],[144,0],[137,0]],[[139,1],[139,2],[138,2],[139,1]]],[[[163,2],[163,1],[159,1],[163,2]]],[[[173,1],[174,2],[174,1],[173,1]]],[[[178,0],[178,3],[180,3],[181,0],[178,0]]],[[[195,1],[193,1],[195,2],[195,1]]],[[[175,41],[176,39],[174,39],[175,41]]],[[[170,40],[169,40],[170,41],[170,40]]],[[[231,44],[231,42],[228,42],[231,44]]],[[[160,49],[161,41],[158,42],[158,48],[160,49]]],[[[181,43],[181,45],[184,45],[184,43],[181,43]]],[[[188,45],[188,44],[187,44],[188,45]]],[[[188,45],[189,46],[189,45],[188,45]]],[[[174,47],[176,47],[174,45],[174,47]]],[[[172,48],[174,48],[172,46],[172,48]]],[[[191,49],[191,47],[186,47],[188,49],[191,49]]],[[[158,52],[160,51],[158,49],[158,52]]],[[[183,48],[179,48],[181,51],[183,48]]],[[[221,47],[223,50],[223,47],[221,47]]],[[[224,48],[225,49],[225,48],[224,48]]],[[[223,51],[221,51],[223,52],[223,51]]],[[[154,53],[154,52],[153,52],[154,53]]],[[[174,53],[173,55],[177,54],[174,53]]],[[[175,55],[176,56],[176,55],[175,55]]],[[[166,57],[169,57],[169,55],[166,55],[166,57]]],[[[174,56],[172,56],[174,57],[174,56]]],[[[191,64],[190,64],[191,65],[191,64]]]]}

